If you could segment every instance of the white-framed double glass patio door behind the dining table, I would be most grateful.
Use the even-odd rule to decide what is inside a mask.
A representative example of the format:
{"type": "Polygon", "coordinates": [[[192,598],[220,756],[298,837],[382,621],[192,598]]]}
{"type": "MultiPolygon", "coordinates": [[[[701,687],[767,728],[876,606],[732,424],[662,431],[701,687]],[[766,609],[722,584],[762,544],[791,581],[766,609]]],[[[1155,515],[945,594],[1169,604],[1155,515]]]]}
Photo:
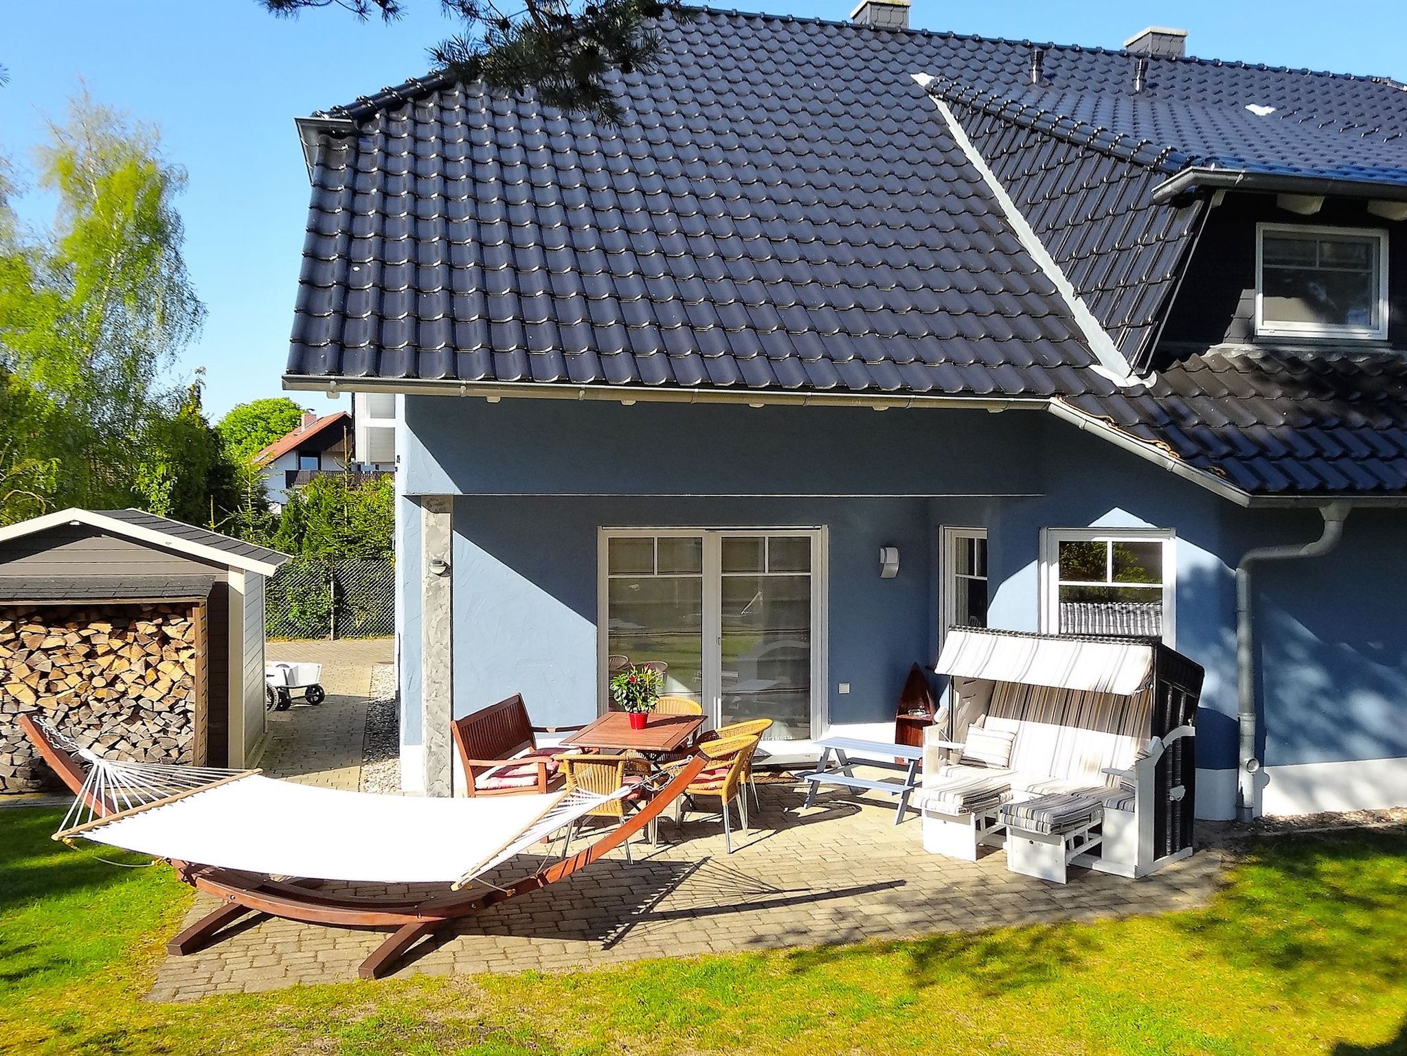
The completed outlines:
{"type": "Polygon", "coordinates": [[[709,727],[771,719],[770,741],[819,721],[823,533],[622,529],[601,540],[602,707],[612,665],[663,661],[666,692],[709,727]]]}

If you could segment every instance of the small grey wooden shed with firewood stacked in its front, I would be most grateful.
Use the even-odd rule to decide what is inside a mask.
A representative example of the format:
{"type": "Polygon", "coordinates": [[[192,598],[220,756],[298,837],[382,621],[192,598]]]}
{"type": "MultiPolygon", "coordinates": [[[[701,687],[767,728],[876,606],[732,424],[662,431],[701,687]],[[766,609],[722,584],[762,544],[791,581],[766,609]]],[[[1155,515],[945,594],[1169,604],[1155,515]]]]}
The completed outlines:
{"type": "Polygon", "coordinates": [[[0,792],[44,786],[15,717],[149,762],[250,765],[265,581],[284,554],[135,509],[0,527],[0,792]]]}

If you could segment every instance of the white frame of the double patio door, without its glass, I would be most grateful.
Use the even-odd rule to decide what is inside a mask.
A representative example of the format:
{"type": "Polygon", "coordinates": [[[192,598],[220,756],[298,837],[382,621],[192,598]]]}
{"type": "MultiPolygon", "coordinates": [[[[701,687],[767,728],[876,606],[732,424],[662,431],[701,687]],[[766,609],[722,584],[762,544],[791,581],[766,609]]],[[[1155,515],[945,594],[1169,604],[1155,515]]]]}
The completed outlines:
{"type": "MultiPolygon", "coordinates": [[[[705,724],[711,728],[713,716],[718,714],[723,703],[723,686],[719,678],[723,648],[723,612],[720,607],[720,589],[723,578],[723,539],[725,536],[806,536],[810,539],[810,741],[826,735],[829,728],[827,679],[830,678],[829,657],[829,596],[830,596],[830,548],[829,533],[822,524],[819,527],[599,527],[597,529],[597,714],[609,710],[611,692],[606,678],[606,658],[609,655],[611,627],[609,602],[611,592],[606,589],[611,579],[609,541],[623,536],[650,537],[704,537],[704,627],[702,627],[702,664],[704,664],[704,716],[705,724]]],[[[795,748],[809,744],[809,741],[777,741],[781,748],[795,748]]]]}

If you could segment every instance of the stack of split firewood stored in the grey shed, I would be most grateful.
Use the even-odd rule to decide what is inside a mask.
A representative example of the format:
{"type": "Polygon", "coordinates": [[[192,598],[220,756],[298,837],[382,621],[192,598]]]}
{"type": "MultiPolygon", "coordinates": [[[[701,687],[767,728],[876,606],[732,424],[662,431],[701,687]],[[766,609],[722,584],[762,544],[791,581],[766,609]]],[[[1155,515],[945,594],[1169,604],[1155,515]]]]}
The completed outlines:
{"type": "Polygon", "coordinates": [[[197,671],[189,606],[0,607],[0,792],[56,786],[20,733],[24,711],[103,754],[204,762],[197,671]]]}

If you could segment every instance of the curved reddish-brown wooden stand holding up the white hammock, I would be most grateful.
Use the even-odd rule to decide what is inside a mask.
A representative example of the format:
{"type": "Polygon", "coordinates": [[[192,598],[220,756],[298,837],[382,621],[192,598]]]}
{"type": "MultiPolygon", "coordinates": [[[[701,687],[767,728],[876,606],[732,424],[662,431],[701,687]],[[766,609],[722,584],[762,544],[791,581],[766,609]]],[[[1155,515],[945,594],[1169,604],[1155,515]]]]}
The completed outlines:
{"type": "MultiPolygon", "coordinates": [[[[117,813],[113,804],[103,803],[84,792],[84,775],[79,762],[53,744],[30,716],[20,716],[20,728],[75,796],[83,797],[84,803],[98,814],[117,813]]],[[[333,928],[394,928],[391,935],[357,969],[362,979],[380,979],[395,966],[395,962],[411,946],[450,921],[471,917],[508,899],[564,880],[606,852],[620,846],[663,814],[666,807],[681,796],[684,789],[708,765],[708,758],[695,755],[644,807],[591,846],[525,876],[512,887],[495,887],[484,893],[452,891],[419,901],[339,897],[319,893],[317,887],[322,883],[321,880],[273,880],[259,873],[170,861],[176,876],[184,883],[221,899],[224,904],[176,935],[166,944],[166,949],[170,953],[194,953],[210,942],[218,941],[218,932],[224,928],[252,913],[333,928]]],[[[452,838],[452,834],[446,834],[446,838],[452,838]]]]}

